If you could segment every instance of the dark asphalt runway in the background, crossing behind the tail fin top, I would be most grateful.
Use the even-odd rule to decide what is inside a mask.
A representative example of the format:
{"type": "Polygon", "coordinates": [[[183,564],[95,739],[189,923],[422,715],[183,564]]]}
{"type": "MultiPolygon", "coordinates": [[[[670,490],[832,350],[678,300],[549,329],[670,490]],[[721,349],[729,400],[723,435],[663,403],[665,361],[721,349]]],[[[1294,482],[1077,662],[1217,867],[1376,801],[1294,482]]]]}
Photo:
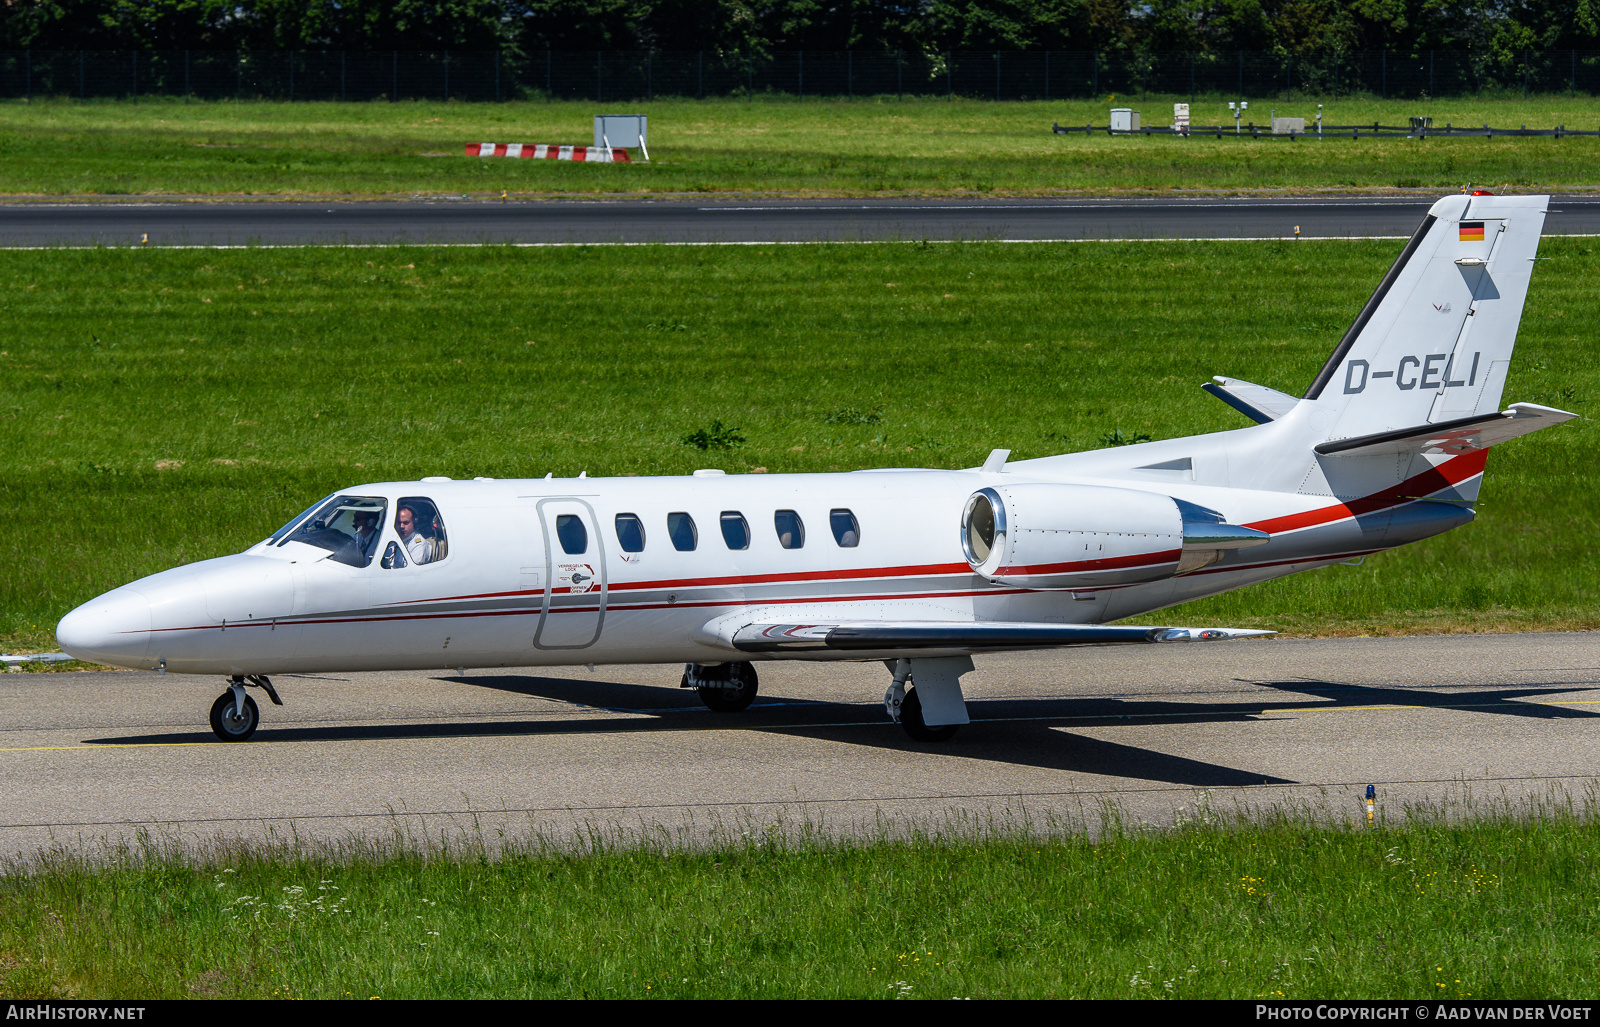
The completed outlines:
{"type": "MultiPolygon", "coordinates": [[[[1403,238],[1437,198],[0,203],[0,246],[1403,238]]],[[[1600,197],[1546,232],[1600,234],[1600,197]]]]}

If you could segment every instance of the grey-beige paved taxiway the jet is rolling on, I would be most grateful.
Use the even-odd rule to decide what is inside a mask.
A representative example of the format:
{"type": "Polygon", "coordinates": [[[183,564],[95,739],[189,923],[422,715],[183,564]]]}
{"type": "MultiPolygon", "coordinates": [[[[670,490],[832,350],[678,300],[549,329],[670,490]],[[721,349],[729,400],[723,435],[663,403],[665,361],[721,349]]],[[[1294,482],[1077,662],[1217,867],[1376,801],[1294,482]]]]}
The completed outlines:
{"type": "Polygon", "coordinates": [[[245,744],[221,680],[0,675],[0,856],[158,843],[694,841],[1136,822],[1197,808],[1362,814],[1592,797],[1600,632],[1123,646],[978,657],[973,723],[915,744],[877,664],[763,664],[744,713],[675,667],[275,680],[245,744]],[[502,833],[504,832],[504,833],[502,833]]]}

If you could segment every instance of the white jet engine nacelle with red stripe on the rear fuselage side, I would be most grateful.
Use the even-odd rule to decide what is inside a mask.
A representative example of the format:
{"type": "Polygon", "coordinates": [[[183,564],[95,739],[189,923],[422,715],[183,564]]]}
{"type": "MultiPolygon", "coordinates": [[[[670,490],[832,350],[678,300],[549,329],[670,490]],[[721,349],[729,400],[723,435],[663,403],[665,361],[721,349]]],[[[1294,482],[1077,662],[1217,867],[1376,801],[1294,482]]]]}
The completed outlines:
{"type": "Polygon", "coordinates": [[[989,581],[1027,589],[1094,589],[1198,569],[1229,549],[1269,541],[1216,510],[1133,488],[1002,485],[962,514],[962,547],[989,581]]]}

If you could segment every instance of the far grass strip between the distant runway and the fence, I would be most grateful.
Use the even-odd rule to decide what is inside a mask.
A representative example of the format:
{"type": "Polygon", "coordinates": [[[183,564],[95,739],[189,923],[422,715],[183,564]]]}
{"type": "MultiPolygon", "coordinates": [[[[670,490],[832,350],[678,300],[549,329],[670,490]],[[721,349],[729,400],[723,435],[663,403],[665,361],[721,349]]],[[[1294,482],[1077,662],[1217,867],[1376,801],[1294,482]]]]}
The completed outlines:
{"type": "MultiPolygon", "coordinates": [[[[1131,104],[1147,125],[1171,123],[1187,96],[1058,102],[872,98],[754,102],[654,101],[651,163],[573,165],[483,160],[464,144],[587,144],[587,102],[277,104],[5,102],[0,195],[176,194],[387,195],[718,194],[1056,195],[1174,190],[1458,190],[1600,187],[1600,138],[1325,139],[1056,136],[1053,122],[1106,125],[1131,104]]],[[[1197,125],[1227,123],[1229,98],[1200,98],[1197,125]]],[[[1307,120],[1405,125],[1600,128],[1590,98],[1374,101],[1256,99],[1307,120]]],[[[1259,114],[1258,114],[1259,112],[1259,114]]]]}

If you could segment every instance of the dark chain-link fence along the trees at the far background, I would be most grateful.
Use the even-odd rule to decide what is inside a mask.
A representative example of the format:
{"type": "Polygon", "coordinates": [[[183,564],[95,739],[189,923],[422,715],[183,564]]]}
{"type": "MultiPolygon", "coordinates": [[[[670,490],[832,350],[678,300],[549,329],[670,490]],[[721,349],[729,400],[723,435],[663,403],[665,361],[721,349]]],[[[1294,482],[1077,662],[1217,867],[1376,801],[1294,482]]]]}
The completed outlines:
{"type": "Polygon", "coordinates": [[[93,51],[0,53],[3,98],[587,99],[709,96],[1600,94],[1600,53],[93,51]]]}

